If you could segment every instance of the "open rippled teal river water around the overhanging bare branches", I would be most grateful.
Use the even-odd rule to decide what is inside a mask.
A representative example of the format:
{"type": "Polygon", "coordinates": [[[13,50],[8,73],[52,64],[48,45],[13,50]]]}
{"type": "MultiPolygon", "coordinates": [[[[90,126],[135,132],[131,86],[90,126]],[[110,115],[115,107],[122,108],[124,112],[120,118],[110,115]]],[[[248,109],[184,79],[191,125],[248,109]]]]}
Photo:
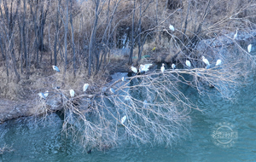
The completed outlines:
{"type": "Polygon", "coordinates": [[[222,99],[215,90],[211,99],[186,90],[204,111],[192,110],[190,134],[170,148],[125,145],[87,154],[61,136],[62,121],[51,114],[45,122],[21,118],[0,124],[0,148],[6,144],[13,149],[0,155],[0,161],[256,161],[255,79],[237,90],[235,101],[222,99]],[[236,132],[237,138],[215,139],[214,130],[236,132]]]}

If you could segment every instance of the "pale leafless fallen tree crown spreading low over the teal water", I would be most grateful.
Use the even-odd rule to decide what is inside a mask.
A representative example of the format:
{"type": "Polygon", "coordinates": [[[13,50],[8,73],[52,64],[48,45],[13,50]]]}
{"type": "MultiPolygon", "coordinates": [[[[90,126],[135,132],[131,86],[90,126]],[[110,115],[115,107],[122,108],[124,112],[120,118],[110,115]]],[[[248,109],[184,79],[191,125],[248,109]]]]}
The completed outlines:
{"type": "MultiPolygon", "coordinates": [[[[215,62],[221,58],[220,67],[204,68],[204,65],[192,62],[190,69],[166,69],[135,75],[125,81],[117,80],[109,84],[105,90],[94,95],[77,95],[64,101],[64,125],[66,136],[73,136],[86,150],[111,148],[127,141],[140,145],[141,143],[165,143],[172,146],[189,133],[189,113],[191,108],[201,111],[189,101],[189,96],[180,89],[188,85],[200,95],[214,93],[232,100],[236,88],[241,84],[240,64],[230,55],[224,60],[221,55],[209,61],[215,62]],[[209,87],[212,84],[215,88],[209,87]],[[110,88],[115,93],[109,91],[110,88]],[[74,101],[79,100],[79,105],[74,101]],[[90,107],[83,107],[87,103],[90,107]],[[121,119],[126,116],[122,124],[121,119]]],[[[212,63],[213,64],[213,63],[212,63]]],[[[245,64],[244,64],[245,65],[245,64]]],[[[214,95],[215,96],[215,95],[214,95]]]]}

